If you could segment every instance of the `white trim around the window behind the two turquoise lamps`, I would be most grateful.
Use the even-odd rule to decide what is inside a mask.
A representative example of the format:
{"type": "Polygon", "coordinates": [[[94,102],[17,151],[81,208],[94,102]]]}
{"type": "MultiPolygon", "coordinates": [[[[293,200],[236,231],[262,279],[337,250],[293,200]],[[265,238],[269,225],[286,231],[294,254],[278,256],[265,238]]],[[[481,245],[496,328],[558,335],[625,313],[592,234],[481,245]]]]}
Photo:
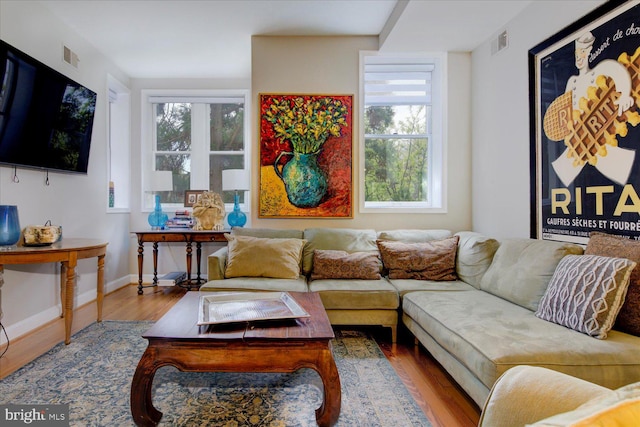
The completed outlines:
{"type": "MultiPolygon", "coordinates": [[[[140,159],[141,159],[141,171],[140,174],[140,206],[142,212],[151,212],[154,207],[153,195],[146,191],[148,185],[146,183],[146,179],[149,176],[149,172],[151,172],[154,168],[153,165],[153,143],[155,140],[155,127],[153,126],[154,121],[153,118],[153,109],[151,108],[152,102],[159,102],[162,100],[161,97],[167,97],[166,100],[175,102],[176,100],[180,100],[182,97],[183,100],[192,102],[194,98],[198,98],[198,101],[207,102],[208,100],[214,99],[216,101],[220,100],[220,98],[224,97],[243,97],[244,98],[244,169],[249,174],[249,182],[251,182],[251,129],[250,129],[250,112],[251,112],[251,96],[250,92],[247,89],[216,89],[216,90],[199,90],[199,89],[143,89],[141,90],[141,100],[140,108],[141,108],[141,129],[140,129],[140,159]],[[155,98],[153,101],[151,98],[155,98]]],[[[220,152],[224,153],[224,152],[220,152]]],[[[193,154],[193,153],[192,153],[193,154]]],[[[238,154],[238,152],[234,151],[232,154],[238,154]]],[[[196,156],[196,157],[204,157],[204,159],[208,162],[209,151],[207,150],[206,156],[196,156]]],[[[194,159],[192,159],[193,161],[194,159]]],[[[196,160],[197,161],[197,160],[196,160]]],[[[196,184],[197,185],[197,184],[196,184]]],[[[194,188],[194,190],[204,189],[205,187],[209,187],[209,183],[204,183],[203,188],[194,188]]],[[[163,203],[163,207],[169,209],[182,209],[184,206],[179,204],[170,204],[163,203]]],[[[251,198],[244,197],[244,203],[240,204],[240,209],[243,212],[251,212],[251,198]]],[[[225,203],[225,211],[231,212],[233,211],[233,203],[225,203]]]]}

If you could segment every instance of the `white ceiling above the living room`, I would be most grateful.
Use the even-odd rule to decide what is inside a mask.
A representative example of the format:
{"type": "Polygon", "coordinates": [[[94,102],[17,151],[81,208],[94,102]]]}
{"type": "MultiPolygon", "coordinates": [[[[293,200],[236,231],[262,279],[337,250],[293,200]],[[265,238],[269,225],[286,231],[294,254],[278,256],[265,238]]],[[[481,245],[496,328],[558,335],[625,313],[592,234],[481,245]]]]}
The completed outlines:
{"type": "Polygon", "coordinates": [[[381,35],[384,50],[471,51],[531,1],[41,0],[133,78],[251,76],[252,35],[381,35]]]}

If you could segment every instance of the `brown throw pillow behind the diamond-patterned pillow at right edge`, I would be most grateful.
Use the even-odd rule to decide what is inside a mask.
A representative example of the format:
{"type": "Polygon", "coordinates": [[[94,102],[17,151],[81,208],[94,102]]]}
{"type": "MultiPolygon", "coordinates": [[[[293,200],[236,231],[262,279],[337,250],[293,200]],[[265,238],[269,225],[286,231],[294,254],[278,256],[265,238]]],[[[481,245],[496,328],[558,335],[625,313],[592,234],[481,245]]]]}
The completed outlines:
{"type": "MultiPolygon", "coordinates": [[[[627,258],[640,264],[640,241],[593,232],[586,254],[627,258]]],[[[613,329],[640,336],[640,267],[631,272],[627,297],[618,313],[613,329]]]]}

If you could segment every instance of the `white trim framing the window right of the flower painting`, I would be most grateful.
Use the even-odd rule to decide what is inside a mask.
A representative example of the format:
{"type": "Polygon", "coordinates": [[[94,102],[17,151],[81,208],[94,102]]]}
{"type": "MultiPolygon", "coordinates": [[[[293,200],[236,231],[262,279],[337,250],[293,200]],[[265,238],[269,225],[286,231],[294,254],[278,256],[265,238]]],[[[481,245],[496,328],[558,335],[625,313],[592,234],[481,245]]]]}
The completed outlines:
{"type": "Polygon", "coordinates": [[[432,95],[433,104],[440,104],[441,108],[433,108],[432,139],[429,143],[431,166],[429,168],[429,182],[434,202],[439,200],[436,206],[425,206],[423,202],[368,202],[365,207],[364,194],[364,126],[359,127],[359,209],[360,213],[447,213],[447,53],[446,52],[403,52],[387,54],[378,51],[360,52],[360,108],[358,109],[359,123],[364,123],[364,62],[366,56],[388,55],[393,57],[428,57],[436,62],[433,74],[432,95]]]}

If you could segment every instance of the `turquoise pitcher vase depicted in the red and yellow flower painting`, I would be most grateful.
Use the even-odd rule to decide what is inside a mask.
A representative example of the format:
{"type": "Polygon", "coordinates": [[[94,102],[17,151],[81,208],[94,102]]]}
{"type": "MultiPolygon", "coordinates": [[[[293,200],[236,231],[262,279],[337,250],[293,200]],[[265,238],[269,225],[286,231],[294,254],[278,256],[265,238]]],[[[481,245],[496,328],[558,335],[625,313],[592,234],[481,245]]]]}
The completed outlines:
{"type": "Polygon", "coordinates": [[[276,158],[276,174],[284,182],[289,202],[296,207],[316,207],[327,192],[327,177],[318,165],[318,154],[283,151],[276,158]],[[293,157],[280,170],[278,162],[284,155],[293,157]]]}

